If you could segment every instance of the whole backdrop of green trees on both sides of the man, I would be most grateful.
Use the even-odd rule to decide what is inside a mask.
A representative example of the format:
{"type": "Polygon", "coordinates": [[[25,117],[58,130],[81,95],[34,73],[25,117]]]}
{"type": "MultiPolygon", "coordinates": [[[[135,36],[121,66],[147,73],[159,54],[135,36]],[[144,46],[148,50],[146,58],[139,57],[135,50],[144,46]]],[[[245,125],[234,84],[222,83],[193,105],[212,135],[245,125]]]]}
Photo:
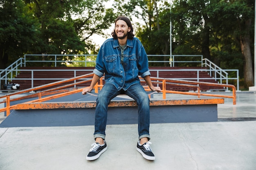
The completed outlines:
{"type": "Polygon", "coordinates": [[[126,15],[148,54],[168,55],[172,42],[173,55],[203,55],[221,68],[239,69],[241,78],[246,75],[243,69],[250,55],[243,52],[246,41],[254,53],[253,0],[115,0],[109,9],[105,3],[108,1],[2,0],[0,68],[25,53],[97,54],[92,35],[104,36],[104,29],[118,15],[126,15]]]}

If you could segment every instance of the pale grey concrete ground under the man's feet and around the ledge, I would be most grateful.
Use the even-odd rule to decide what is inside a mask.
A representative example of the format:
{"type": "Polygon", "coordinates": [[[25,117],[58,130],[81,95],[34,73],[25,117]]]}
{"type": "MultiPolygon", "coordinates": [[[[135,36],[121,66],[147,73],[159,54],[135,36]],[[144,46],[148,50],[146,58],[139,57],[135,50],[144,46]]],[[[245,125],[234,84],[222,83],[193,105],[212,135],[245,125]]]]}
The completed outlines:
{"type": "Polygon", "coordinates": [[[225,99],[218,119],[150,124],[155,161],[136,150],[137,124],[107,125],[108,149],[95,161],[86,160],[94,126],[0,128],[0,170],[255,170],[256,94],[225,99]]]}

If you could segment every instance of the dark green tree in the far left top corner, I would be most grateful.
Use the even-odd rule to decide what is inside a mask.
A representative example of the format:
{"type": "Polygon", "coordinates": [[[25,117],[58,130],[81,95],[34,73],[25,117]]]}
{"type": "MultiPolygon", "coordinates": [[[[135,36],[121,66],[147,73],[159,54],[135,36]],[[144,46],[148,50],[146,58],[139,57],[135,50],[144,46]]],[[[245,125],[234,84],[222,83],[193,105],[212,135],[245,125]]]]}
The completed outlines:
{"type": "Polygon", "coordinates": [[[0,69],[32,49],[38,29],[21,0],[0,2],[0,69]]]}

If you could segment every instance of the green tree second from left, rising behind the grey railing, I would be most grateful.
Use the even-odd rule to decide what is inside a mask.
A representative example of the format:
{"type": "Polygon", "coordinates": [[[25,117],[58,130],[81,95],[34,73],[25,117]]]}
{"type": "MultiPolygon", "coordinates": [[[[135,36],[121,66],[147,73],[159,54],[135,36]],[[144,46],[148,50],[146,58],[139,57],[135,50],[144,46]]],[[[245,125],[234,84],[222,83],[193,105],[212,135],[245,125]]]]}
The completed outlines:
{"type": "Polygon", "coordinates": [[[40,23],[40,32],[32,51],[36,54],[77,54],[85,52],[85,43],[77,35],[72,14],[76,13],[82,1],[25,0],[31,13],[40,23]]]}

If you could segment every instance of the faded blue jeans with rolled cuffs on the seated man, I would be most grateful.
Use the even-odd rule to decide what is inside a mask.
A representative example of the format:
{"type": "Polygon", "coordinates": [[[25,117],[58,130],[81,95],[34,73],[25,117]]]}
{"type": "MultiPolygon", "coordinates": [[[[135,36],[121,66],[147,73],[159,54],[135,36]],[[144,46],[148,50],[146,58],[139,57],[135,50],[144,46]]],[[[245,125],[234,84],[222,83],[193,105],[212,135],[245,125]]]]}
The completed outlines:
{"type": "Polygon", "coordinates": [[[134,84],[130,86],[126,91],[121,89],[120,91],[115,88],[111,83],[106,83],[99,95],[97,97],[97,106],[95,110],[95,131],[94,139],[101,137],[105,139],[106,133],[106,124],[108,116],[108,104],[110,100],[120,94],[126,94],[132,97],[138,105],[138,133],[139,139],[147,137],[150,140],[149,136],[149,97],[140,84],[134,84]]]}

